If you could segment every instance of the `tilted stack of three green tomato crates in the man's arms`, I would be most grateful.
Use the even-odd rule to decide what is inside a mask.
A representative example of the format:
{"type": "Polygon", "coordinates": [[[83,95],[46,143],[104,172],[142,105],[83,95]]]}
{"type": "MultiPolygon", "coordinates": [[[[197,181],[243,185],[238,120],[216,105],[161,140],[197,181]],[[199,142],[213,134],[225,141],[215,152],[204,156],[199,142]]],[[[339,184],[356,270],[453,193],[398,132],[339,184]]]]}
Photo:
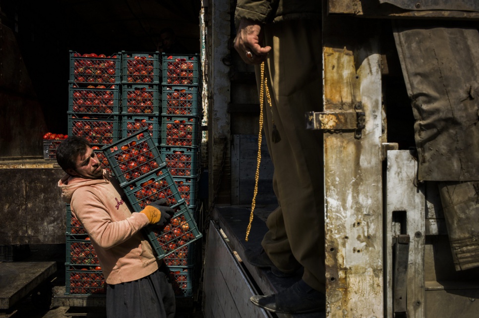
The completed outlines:
{"type": "Polygon", "coordinates": [[[193,266],[191,243],[202,235],[149,132],[148,129],[133,132],[102,150],[135,212],[161,199],[175,210],[168,224],[163,228],[151,226],[146,235],[157,258],[170,267],[176,296],[191,297],[192,270],[188,270],[193,266]]]}

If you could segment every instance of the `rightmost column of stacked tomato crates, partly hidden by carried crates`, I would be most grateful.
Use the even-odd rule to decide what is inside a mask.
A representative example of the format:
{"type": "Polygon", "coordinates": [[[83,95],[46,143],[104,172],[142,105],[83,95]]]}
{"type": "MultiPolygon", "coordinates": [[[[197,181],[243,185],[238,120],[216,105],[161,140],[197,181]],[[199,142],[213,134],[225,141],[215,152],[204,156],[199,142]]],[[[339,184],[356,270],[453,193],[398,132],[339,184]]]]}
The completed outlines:
{"type": "MultiPolygon", "coordinates": [[[[200,168],[198,55],[162,54],[162,127],[160,152],[181,198],[195,214],[200,168]]],[[[197,244],[165,258],[174,281],[191,284],[197,244]],[[186,257],[184,257],[186,255],[186,257]],[[185,279],[185,281],[182,281],[185,279]]],[[[189,296],[189,295],[185,295],[189,296]]]]}

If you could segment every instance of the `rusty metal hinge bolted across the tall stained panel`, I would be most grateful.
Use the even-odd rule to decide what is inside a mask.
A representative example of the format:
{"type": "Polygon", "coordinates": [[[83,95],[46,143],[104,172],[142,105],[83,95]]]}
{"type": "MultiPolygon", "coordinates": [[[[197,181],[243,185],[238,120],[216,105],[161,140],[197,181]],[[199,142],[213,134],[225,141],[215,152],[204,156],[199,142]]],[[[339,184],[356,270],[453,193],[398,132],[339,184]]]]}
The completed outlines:
{"type": "Polygon", "coordinates": [[[355,138],[362,137],[365,126],[365,114],[362,103],[358,102],[351,110],[308,111],[306,112],[306,129],[319,129],[324,132],[354,131],[355,138]]]}

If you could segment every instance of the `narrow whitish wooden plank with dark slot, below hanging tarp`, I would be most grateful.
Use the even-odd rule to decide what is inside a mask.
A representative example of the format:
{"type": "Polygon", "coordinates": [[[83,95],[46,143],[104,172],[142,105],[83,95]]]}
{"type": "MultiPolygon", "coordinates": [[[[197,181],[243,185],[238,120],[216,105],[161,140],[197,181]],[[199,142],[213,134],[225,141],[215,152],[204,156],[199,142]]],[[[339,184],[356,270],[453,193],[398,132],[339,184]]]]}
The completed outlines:
{"type": "Polygon", "coordinates": [[[392,237],[396,234],[410,236],[407,308],[408,317],[424,317],[424,244],[425,244],[425,197],[424,187],[415,186],[417,161],[409,151],[389,151],[387,156],[387,308],[392,317],[392,237]],[[395,229],[395,212],[405,212],[406,223],[400,233],[395,229]]]}

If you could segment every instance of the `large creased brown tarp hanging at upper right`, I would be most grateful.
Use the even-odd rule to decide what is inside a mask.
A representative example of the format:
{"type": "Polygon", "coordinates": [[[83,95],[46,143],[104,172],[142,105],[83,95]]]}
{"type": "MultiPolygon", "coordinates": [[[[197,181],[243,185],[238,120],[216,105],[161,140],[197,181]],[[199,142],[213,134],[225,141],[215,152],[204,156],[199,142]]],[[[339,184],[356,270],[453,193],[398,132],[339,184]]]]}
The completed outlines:
{"type": "Polygon", "coordinates": [[[396,20],[394,37],[416,119],[419,180],[479,180],[479,33],[396,20]]]}

